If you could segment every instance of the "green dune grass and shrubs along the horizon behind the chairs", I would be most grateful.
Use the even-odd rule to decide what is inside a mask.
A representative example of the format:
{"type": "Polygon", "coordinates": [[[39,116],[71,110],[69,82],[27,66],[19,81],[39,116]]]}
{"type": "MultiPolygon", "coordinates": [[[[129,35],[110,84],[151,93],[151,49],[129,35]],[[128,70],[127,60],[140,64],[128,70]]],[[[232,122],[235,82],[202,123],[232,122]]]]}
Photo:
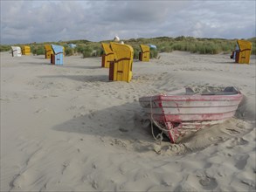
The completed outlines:
{"type": "MultiPolygon", "coordinates": [[[[224,38],[193,38],[193,37],[159,37],[159,38],[130,38],[123,40],[125,44],[131,45],[134,48],[134,58],[139,58],[141,51],[140,45],[156,45],[157,50],[150,51],[150,58],[157,58],[159,52],[171,51],[190,51],[191,53],[199,54],[218,54],[229,53],[234,50],[237,39],[224,38]]],[[[256,54],[256,38],[246,39],[253,44],[252,54],[256,54]]],[[[91,42],[88,40],[70,40],[59,42],[32,43],[31,52],[34,55],[45,54],[44,45],[54,44],[65,47],[66,56],[81,54],[83,58],[100,57],[103,54],[101,43],[109,43],[111,40],[91,42]],[[68,44],[77,45],[75,48],[70,48],[68,44]]],[[[0,51],[10,51],[11,45],[0,45],[0,51]]],[[[21,46],[21,45],[17,45],[21,46]]]]}

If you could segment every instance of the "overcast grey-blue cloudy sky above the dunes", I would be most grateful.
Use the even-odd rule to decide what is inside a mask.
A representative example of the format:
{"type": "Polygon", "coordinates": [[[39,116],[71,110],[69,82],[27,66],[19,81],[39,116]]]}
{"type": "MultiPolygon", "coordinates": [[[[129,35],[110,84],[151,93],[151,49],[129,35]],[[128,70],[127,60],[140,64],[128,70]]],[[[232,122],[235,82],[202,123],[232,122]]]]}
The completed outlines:
{"type": "Polygon", "coordinates": [[[1,44],[192,36],[253,38],[255,0],[1,0],[1,44]]]}

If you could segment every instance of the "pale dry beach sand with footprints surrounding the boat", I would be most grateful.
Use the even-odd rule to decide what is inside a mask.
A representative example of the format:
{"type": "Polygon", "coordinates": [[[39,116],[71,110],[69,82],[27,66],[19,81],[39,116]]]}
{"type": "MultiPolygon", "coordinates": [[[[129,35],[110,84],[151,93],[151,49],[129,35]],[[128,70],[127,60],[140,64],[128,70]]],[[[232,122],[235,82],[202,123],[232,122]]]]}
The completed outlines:
{"type": "Polygon", "coordinates": [[[1,52],[1,191],[255,190],[255,57],[162,53],[109,82],[100,58],[1,52]],[[190,86],[237,86],[236,117],[160,146],[138,99],[190,86]]]}

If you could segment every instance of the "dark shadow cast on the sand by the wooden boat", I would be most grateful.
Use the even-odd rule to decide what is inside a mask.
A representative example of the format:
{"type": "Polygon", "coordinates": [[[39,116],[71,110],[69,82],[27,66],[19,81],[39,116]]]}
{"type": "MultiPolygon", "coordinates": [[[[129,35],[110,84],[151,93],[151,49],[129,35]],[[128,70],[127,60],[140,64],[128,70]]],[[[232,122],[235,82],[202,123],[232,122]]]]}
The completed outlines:
{"type": "MultiPolygon", "coordinates": [[[[117,140],[135,145],[139,143],[138,150],[142,151],[142,142],[148,146],[155,142],[149,121],[145,120],[143,115],[139,103],[132,102],[79,113],[72,120],[67,120],[52,129],[67,133],[90,134],[110,141],[117,140]]],[[[144,150],[148,151],[149,148],[146,146],[144,150]]]]}

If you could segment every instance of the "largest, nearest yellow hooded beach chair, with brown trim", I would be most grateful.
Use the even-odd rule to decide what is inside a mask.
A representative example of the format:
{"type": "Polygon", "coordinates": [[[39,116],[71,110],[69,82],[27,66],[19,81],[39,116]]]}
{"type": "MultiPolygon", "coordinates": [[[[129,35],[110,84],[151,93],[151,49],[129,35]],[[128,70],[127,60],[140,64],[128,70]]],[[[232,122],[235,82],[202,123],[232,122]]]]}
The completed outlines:
{"type": "Polygon", "coordinates": [[[130,82],[133,75],[133,47],[112,42],[110,46],[114,51],[114,61],[110,63],[109,80],[130,82]]]}

